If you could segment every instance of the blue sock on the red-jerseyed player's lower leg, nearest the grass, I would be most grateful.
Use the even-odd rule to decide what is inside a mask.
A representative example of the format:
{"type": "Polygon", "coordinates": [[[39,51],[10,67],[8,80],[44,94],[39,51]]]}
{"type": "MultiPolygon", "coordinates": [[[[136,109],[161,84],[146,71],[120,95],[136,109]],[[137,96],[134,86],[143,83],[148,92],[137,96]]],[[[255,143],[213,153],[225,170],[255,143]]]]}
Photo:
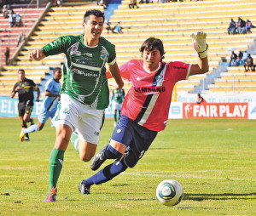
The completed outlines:
{"type": "Polygon", "coordinates": [[[105,168],[102,168],[98,173],[91,176],[89,179],[85,179],[83,181],[83,184],[90,186],[90,185],[100,185],[102,183],[105,183],[111,179],[113,179],[115,176],[119,175],[119,173],[122,173],[128,168],[124,162],[124,159],[122,159],[120,162],[115,161],[105,168]]]}

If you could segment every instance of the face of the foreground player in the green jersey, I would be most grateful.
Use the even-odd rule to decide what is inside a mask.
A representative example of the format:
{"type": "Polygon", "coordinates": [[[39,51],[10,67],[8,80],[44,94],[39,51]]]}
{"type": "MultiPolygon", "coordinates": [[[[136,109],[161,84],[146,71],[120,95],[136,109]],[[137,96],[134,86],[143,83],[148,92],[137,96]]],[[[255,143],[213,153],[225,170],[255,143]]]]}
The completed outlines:
{"type": "Polygon", "coordinates": [[[87,20],[86,23],[83,23],[85,37],[92,40],[98,40],[103,31],[103,24],[103,17],[90,15],[89,20],[87,20]]]}

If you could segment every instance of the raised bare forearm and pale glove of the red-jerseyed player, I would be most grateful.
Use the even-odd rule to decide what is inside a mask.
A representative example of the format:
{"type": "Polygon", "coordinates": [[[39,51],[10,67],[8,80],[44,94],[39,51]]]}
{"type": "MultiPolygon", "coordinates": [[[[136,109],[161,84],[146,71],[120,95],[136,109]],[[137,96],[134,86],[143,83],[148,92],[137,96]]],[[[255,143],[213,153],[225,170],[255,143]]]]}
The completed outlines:
{"type": "Polygon", "coordinates": [[[190,75],[203,74],[209,70],[208,57],[207,57],[207,33],[197,31],[191,35],[194,43],[195,51],[199,56],[198,64],[191,65],[190,75]]]}

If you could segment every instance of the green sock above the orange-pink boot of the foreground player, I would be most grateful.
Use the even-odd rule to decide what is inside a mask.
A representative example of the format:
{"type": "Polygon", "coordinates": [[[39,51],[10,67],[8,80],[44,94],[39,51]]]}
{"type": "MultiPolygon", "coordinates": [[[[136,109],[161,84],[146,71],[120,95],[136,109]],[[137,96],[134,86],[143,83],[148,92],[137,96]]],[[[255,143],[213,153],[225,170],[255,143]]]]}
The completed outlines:
{"type": "Polygon", "coordinates": [[[53,148],[49,156],[49,189],[55,188],[63,165],[65,151],[53,148]]]}

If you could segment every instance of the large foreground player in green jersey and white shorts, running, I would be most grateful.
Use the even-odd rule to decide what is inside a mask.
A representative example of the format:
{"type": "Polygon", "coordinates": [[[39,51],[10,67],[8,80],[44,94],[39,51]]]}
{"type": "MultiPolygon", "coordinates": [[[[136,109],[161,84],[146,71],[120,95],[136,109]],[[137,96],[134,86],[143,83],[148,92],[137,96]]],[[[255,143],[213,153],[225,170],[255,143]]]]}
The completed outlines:
{"type": "Polygon", "coordinates": [[[70,139],[84,162],[95,155],[104,109],[109,103],[105,64],[117,83],[124,86],[116,63],[115,47],[101,37],[104,13],[88,10],[84,14],[84,34],[58,37],[44,48],[30,53],[32,60],[43,60],[54,54],[66,54],[61,88],[61,101],[54,120],[56,139],[49,157],[49,193],[45,202],[55,202],[56,184],[63,165],[64,152],[70,139]],[[74,130],[79,141],[73,135],[74,130]]]}

